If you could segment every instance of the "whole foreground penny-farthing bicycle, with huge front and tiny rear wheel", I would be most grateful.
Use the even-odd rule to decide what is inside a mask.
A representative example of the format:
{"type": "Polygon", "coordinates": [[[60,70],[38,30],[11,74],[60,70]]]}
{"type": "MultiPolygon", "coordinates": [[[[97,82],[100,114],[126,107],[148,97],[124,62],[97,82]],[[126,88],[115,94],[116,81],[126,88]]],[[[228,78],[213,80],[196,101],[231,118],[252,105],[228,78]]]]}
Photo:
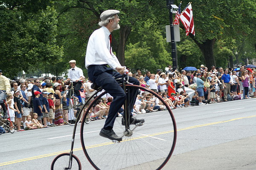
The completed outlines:
{"type": "MultiPolygon", "coordinates": [[[[160,105],[163,110],[137,115],[137,118],[145,119],[145,123],[130,125],[132,124],[129,119],[131,113],[128,113],[127,109],[129,99],[126,99],[123,113],[123,117],[126,118],[123,120],[125,122],[122,123],[122,117],[117,117],[113,127],[117,136],[122,136],[122,141],[111,141],[99,136],[99,132],[105,124],[104,120],[97,120],[89,125],[85,124],[85,118],[91,108],[106,94],[106,92],[101,92],[102,88],[98,88],[93,95],[96,96],[95,99],[89,104],[88,101],[93,98],[91,96],[83,106],[87,107],[86,111],[82,113],[84,109],[81,109],[79,113],[83,114],[80,137],[84,154],[96,170],[160,170],[170,159],[175,148],[177,129],[172,111],[154,91],[142,86],[131,85],[128,82],[127,74],[124,74],[121,81],[120,85],[127,94],[127,98],[131,89],[145,91],[145,93],[152,94],[156,105],[160,105]]],[[[52,170],[81,170],[81,163],[73,154],[77,124],[76,121],[70,153],[58,155],[52,161],[52,170]]],[[[86,167],[86,169],[92,169],[92,167],[86,167]]]]}

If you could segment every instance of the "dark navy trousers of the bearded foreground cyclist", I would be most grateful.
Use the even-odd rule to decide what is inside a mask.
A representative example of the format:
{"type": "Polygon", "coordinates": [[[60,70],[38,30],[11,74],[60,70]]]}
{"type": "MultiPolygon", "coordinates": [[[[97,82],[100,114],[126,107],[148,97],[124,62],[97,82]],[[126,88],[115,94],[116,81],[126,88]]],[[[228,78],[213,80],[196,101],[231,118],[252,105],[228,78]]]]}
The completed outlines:
{"type": "MultiPolygon", "coordinates": [[[[117,112],[124,104],[126,97],[128,98],[128,109],[131,113],[138,90],[131,89],[129,93],[130,95],[126,96],[122,87],[120,87],[115,80],[115,78],[120,78],[122,75],[116,71],[113,71],[112,68],[108,68],[106,65],[90,65],[88,68],[88,77],[90,81],[96,83],[98,86],[101,86],[106,92],[113,96],[113,102],[111,102],[108,118],[106,119],[104,125],[104,129],[111,129],[113,128],[117,112]]],[[[140,82],[134,77],[129,77],[129,82],[134,85],[140,85],[140,82]]]]}

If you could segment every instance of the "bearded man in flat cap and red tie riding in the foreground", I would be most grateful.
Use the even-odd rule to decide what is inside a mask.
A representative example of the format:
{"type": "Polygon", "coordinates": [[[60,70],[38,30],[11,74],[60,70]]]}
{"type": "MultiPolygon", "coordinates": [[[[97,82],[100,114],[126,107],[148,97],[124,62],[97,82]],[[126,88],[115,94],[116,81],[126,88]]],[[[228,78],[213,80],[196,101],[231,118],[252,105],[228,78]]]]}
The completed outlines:
{"type": "MultiPolygon", "coordinates": [[[[90,35],[86,50],[85,67],[88,69],[90,81],[101,86],[113,96],[108,118],[99,135],[111,140],[122,141],[122,138],[117,136],[113,131],[113,125],[117,112],[126,99],[125,92],[115,79],[122,77],[125,68],[121,66],[111,48],[111,32],[120,28],[118,24],[120,19],[117,15],[119,12],[118,10],[106,10],[100,15],[101,21],[99,22],[99,26],[101,26],[101,28],[93,31],[93,34],[90,35]]],[[[140,85],[140,82],[134,77],[129,77],[129,82],[134,85],[140,85]]],[[[130,95],[130,101],[128,102],[131,111],[137,96],[137,90],[133,89],[130,95]]],[[[124,125],[124,118],[122,119],[122,124],[124,125]]],[[[132,117],[132,115],[130,121],[132,122],[131,124],[145,122],[144,119],[136,119],[132,117]]]]}

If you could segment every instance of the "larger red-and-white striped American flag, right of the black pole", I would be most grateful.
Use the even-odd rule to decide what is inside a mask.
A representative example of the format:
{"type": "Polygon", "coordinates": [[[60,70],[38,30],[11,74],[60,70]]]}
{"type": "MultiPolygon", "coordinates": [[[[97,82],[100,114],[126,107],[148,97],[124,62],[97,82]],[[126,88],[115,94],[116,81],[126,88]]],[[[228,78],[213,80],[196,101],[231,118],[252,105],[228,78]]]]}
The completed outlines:
{"type": "Polygon", "coordinates": [[[191,3],[189,3],[180,14],[180,21],[183,23],[186,29],[186,35],[188,36],[189,33],[191,33],[195,36],[195,27],[191,3]]]}

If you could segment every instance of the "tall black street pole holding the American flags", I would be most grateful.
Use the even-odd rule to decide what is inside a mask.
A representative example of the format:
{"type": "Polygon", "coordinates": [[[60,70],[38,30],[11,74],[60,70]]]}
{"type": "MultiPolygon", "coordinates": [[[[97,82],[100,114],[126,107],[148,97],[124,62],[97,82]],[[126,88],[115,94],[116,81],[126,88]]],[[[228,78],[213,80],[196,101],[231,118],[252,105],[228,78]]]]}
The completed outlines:
{"type": "Polygon", "coordinates": [[[172,45],[172,68],[176,70],[178,68],[178,59],[177,59],[177,49],[176,42],[174,41],[174,28],[173,28],[173,19],[172,19],[172,4],[173,0],[166,0],[167,8],[169,9],[169,20],[170,20],[170,29],[171,29],[171,45],[172,45]]]}

